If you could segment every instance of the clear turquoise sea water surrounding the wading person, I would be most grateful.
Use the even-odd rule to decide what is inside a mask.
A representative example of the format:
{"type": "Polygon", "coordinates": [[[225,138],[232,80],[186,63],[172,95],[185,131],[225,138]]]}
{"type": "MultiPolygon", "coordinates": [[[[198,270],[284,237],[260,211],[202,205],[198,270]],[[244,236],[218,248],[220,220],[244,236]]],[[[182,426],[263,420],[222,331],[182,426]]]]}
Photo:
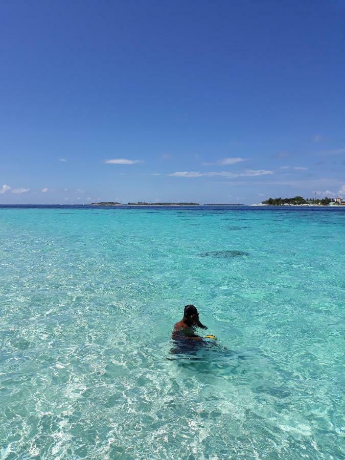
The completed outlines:
{"type": "Polygon", "coordinates": [[[0,458],[345,458],[344,236],[339,208],[0,206],[0,458]],[[176,351],[186,304],[217,342],[176,351]]]}

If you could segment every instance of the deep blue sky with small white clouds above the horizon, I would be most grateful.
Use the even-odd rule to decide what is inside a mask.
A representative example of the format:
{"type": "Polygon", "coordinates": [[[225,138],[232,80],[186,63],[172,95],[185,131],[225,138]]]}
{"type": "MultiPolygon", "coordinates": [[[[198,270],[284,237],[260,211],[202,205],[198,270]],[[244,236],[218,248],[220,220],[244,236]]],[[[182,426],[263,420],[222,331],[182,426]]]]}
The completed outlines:
{"type": "Polygon", "coordinates": [[[0,203],[345,197],[344,28],[345,0],[2,2],[0,203]]]}

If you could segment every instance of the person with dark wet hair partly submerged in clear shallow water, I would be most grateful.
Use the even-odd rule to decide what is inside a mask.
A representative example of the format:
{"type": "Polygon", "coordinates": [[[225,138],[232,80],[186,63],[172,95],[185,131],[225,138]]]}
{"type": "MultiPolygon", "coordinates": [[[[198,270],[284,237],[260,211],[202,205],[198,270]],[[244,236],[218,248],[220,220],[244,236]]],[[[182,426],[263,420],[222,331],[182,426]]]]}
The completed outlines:
{"type": "Polygon", "coordinates": [[[174,348],[170,350],[172,355],[180,353],[195,355],[197,350],[205,344],[203,338],[195,334],[196,327],[207,329],[200,323],[199,313],[194,305],[186,305],[183,318],[175,324],[171,334],[174,341],[174,348]]]}

